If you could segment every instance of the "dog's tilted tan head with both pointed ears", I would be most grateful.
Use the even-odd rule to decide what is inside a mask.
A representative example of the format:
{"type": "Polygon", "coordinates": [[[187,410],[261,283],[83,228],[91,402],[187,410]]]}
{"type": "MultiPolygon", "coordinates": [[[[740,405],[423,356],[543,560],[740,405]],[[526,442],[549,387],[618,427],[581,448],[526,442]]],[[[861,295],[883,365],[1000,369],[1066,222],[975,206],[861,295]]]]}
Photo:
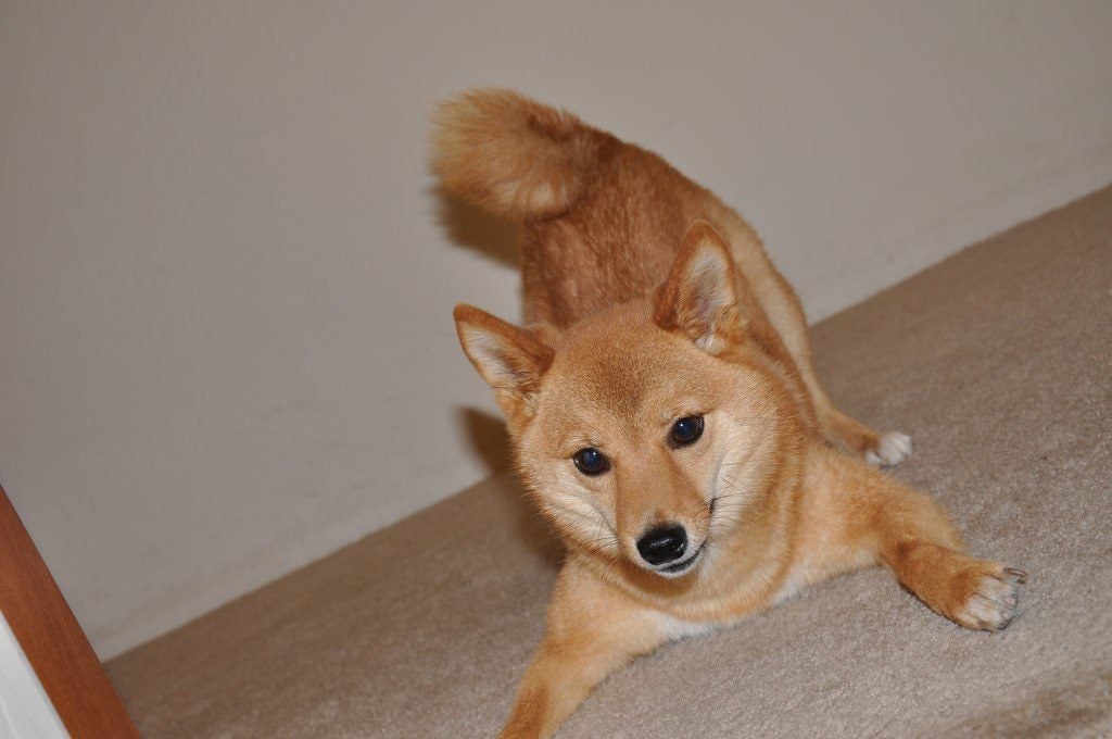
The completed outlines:
{"type": "Polygon", "coordinates": [[[791,403],[759,359],[741,284],[697,223],[652,296],[566,329],[456,308],[523,476],[569,545],[679,578],[762,510],[791,403]]]}

